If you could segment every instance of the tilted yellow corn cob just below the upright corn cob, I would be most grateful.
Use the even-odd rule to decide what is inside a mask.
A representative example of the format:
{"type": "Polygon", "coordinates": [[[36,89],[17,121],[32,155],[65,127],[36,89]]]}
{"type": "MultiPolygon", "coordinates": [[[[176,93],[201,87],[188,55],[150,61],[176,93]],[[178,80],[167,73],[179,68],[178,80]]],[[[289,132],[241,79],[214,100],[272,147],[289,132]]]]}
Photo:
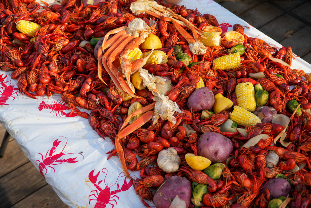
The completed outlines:
{"type": "Polygon", "coordinates": [[[234,106],[230,114],[230,119],[241,126],[255,126],[256,123],[261,123],[261,120],[255,114],[241,108],[234,106]]]}

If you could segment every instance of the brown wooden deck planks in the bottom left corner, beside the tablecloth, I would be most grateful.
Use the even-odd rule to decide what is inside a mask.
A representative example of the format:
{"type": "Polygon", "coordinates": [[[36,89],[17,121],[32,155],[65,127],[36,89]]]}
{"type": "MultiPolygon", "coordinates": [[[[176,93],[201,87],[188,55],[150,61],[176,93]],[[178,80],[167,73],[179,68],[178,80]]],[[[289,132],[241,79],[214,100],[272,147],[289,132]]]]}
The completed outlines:
{"type": "MultiPolygon", "coordinates": [[[[0,124],[0,144],[5,129],[0,124]]],[[[44,177],[10,136],[0,158],[0,208],[66,208],[44,177]]]]}

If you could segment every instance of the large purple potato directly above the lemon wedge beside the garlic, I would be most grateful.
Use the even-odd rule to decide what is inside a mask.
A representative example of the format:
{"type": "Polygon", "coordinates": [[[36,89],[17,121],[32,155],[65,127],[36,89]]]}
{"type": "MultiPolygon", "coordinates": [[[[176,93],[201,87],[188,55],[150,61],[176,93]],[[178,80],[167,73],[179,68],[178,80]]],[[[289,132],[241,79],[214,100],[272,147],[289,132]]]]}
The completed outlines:
{"type": "Polygon", "coordinates": [[[211,162],[225,162],[233,150],[230,139],[220,133],[203,133],[197,142],[197,154],[211,162]]]}

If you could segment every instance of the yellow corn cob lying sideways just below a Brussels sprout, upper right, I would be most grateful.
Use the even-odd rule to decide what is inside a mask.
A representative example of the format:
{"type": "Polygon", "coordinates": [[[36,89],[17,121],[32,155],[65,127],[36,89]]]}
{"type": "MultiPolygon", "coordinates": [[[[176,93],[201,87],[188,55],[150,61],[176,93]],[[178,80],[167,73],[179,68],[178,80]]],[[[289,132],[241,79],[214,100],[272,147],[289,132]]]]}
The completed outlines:
{"type": "Polygon", "coordinates": [[[215,69],[221,70],[237,69],[241,66],[240,61],[241,58],[239,53],[232,53],[214,59],[213,65],[215,69]]]}

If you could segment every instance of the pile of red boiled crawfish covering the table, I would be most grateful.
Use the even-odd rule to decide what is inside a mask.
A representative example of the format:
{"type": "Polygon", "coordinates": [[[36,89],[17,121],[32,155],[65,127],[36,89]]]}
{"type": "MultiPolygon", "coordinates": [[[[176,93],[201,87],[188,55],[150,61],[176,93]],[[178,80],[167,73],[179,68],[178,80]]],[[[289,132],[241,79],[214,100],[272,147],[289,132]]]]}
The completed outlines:
{"type": "MultiPolygon", "coordinates": [[[[141,178],[134,181],[134,187],[146,206],[149,205],[144,200],[153,199],[152,188],[160,186],[173,175],[179,175],[191,182],[208,185],[208,196],[203,198],[204,205],[208,207],[267,207],[270,196],[268,192],[262,193],[261,187],[265,181],[283,173],[292,186],[290,197],[293,198],[288,203],[289,207],[308,207],[311,200],[311,117],[308,113],[311,108],[311,83],[307,81],[304,71],[292,70],[268,58],[284,59],[291,65],[294,59],[291,48],[279,49],[258,38],[248,37],[244,34],[245,26],[235,24],[233,30],[245,38],[245,53],[241,59],[249,60],[245,62],[248,64],[235,70],[218,70],[212,62],[228,54],[230,46],[227,43],[206,47],[207,51],[203,55],[193,54],[188,46],[193,28],[183,25],[184,31],[180,32],[181,26],[166,21],[164,17],[152,15],[152,12],[134,15],[130,10],[132,2],[135,1],[95,0],[93,5],[87,5],[82,1],[63,0],[61,5],[45,6],[40,6],[34,0],[0,3],[1,70],[12,71],[11,77],[17,79],[19,91],[31,98],[62,94],[63,101],[67,103],[68,109],[72,109],[72,113],[88,118],[100,137],[110,137],[116,149],[108,152],[108,158],[118,153],[121,164],[126,166],[123,170],[127,176],[128,170],[141,171],[141,178]],[[132,99],[123,101],[120,96],[123,90],[119,87],[122,83],[115,82],[119,72],[104,68],[99,60],[105,55],[102,54],[103,57],[97,60],[94,48],[89,43],[79,46],[81,41],[90,41],[92,37],[104,37],[106,34],[108,37],[123,30],[118,28],[124,28],[134,18],[140,18],[147,24],[156,23],[152,34],[160,37],[162,42],[162,48],[157,50],[164,51],[169,57],[167,64],[150,64],[144,68],[150,74],[167,76],[172,81],[174,86],[166,95],[181,111],[174,113],[174,123],[161,118],[153,123],[151,118],[155,95],[147,89],[136,89],[132,99]],[[34,37],[27,36],[17,31],[15,23],[19,20],[36,22],[41,28],[34,37]],[[185,31],[190,33],[189,36],[185,35],[185,31]],[[176,60],[172,52],[176,45],[180,45],[183,52],[197,64],[187,67],[182,61],[176,60]],[[100,72],[98,65],[101,65],[100,72]],[[249,78],[248,74],[255,72],[264,72],[267,78],[249,78]],[[284,79],[276,74],[282,75],[284,79]],[[220,125],[228,119],[228,113],[200,119],[200,112],[187,108],[187,99],[196,89],[200,78],[214,94],[221,93],[230,98],[233,106],[237,105],[234,92],[237,83],[260,83],[270,93],[267,105],[274,107],[279,114],[290,117],[285,140],[291,144],[287,147],[279,142],[272,145],[276,134],[273,128],[269,128],[270,124],[258,123],[247,127],[248,137],[241,137],[236,133],[220,132],[220,125]],[[294,85],[292,89],[291,85],[294,85]],[[304,112],[301,116],[292,115],[286,109],[286,103],[292,99],[301,104],[304,112]],[[140,125],[130,124],[125,127],[128,123],[128,108],[136,101],[144,106],[140,112],[146,113],[133,123],[136,125],[141,122],[140,125]],[[91,113],[81,112],[77,107],[91,110],[91,113]],[[190,125],[195,132],[187,136],[183,124],[190,125]],[[202,133],[211,131],[230,138],[234,146],[233,159],[226,164],[222,177],[215,181],[203,172],[191,169],[184,159],[186,153],[197,155],[198,138],[202,133]],[[249,138],[262,133],[269,135],[269,138],[260,140],[250,148],[241,148],[249,138]],[[181,158],[179,170],[175,173],[165,173],[155,164],[157,153],[169,147],[175,148],[181,158]],[[266,167],[265,156],[269,150],[275,151],[281,158],[281,162],[272,168],[266,167]],[[139,162],[137,156],[141,158],[139,162]],[[299,171],[290,172],[296,164],[299,165],[299,171]]],[[[183,17],[197,31],[207,26],[219,27],[216,18],[210,14],[201,14],[180,5],[157,3],[183,17]]],[[[149,50],[142,50],[146,51],[149,50]]]]}

